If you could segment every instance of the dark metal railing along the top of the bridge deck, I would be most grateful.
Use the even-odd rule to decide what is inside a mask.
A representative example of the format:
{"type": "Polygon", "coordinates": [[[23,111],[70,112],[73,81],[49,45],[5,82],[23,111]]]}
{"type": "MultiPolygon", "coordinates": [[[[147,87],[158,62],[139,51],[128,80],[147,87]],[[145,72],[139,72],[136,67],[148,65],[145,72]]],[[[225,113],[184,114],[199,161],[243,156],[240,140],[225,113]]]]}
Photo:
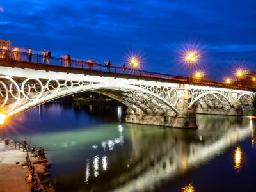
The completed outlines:
{"type": "MultiPolygon", "coordinates": [[[[108,72],[106,65],[100,63],[90,63],[83,60],[67,60],[67,58],[47,58],[47,56],[42,56],[40,54],[29,54],[27,52],[16,52],[16,51],[9,51],[5,49],[0,49],[0,60],[12,60],[12,61],[22,61],[28,63],[35,63],[35,64],[43,64],[43,65],[53,65],[58,67],[65,67],[65,68],[81,68],[82,70],[95,70],[100,72],[108,72]]],[[[173,76],[170,74],[162,74],[158,72],[149,72],[145,70],[135,69],[135,68],[123,68],[118,67],[115,64],[111,65],[110,68],[111,73],[116,74],[126,74],[126,75],[133,75],[133,76],[146,76],[146,77],[156,77],[161,79],[172,79],[176,81],[193,83],[193,84],[200,84],[200,85],[212,85],[212,86],[220,86],[225,88],[232,88],[232,89],[243,89],[243,90],[252,90],[255,89],[246,87],[246,86],[236,86],[230,85],[227,86],[224,83],[215,82],[215,81],[205,81],[205,80],[198,80],[198,79],[189,79],[189,77],[184,76],[173,76]]]]}

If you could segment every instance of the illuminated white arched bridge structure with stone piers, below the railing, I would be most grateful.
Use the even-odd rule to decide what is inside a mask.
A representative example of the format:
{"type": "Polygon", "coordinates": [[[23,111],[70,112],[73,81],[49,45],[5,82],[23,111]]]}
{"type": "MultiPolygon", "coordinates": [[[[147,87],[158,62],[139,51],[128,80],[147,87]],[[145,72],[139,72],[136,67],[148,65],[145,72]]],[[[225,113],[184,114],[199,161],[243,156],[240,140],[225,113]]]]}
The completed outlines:
{"type": "Polygon", "coordinates": [[[45,65],[27,67],[34,68],[0,66],[0,111],[8,113],[7,118],[84,91],[107,95],[125,104],[127,122],[138,124],[184,127],[186,123],[186,127],[195,128],[195,113],[221,115],[218,109],[225,109],[223,115],[243,115],[237,104],[252,106],[253,92],[246,90],[196,86],[154,77],[131,76],[129,79],[126,75],[113,76],[107,72],[80,73],[72,68],[45,70],[45,65]],[[199,106],[197,111],[192,109],[195,104],[199,106]]]}

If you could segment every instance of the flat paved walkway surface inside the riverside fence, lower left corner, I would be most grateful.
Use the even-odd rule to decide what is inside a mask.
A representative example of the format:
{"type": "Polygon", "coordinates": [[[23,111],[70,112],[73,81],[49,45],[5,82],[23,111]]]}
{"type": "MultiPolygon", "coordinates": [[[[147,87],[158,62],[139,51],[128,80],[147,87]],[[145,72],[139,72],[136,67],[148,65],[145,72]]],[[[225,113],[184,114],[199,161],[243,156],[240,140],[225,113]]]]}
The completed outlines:
{"type": "Polygon", "coordinates": [[[0,192],[30,191],[31,184],[25,181],[29,169],[15,164],[26,161],[26,152],[0,143],[0,192]]]}

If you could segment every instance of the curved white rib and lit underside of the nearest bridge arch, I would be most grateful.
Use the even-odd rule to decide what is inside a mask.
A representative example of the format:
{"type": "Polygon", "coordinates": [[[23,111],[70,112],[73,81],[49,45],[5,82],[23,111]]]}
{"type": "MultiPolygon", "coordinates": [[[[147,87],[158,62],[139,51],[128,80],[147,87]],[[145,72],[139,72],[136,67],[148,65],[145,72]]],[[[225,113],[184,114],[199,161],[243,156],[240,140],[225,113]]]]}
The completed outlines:
{"type": "MultiPolygon", "coordinates": [[[[12,80],[12,83],[15,82],[10,77],[8,80],[10,81],[12,80]]],[[[36,80],[39,80],[39,79],[36,79],[36,80]]],[[[47,81],[47,83],[48,82],[49,80],[47,81]]],[[[25,83],[22,83],[21,88],[24,88],[25,83]]],[[[73,85],[75,84],[76,83],[74,83],[73,85]]],[[[17,85],[17,87],[19,86],[17,85]]],[[[26,93],[24,90],[18,90],[19,93],[22,93],[22,95],[20,96],[25,97],[25,100],[24,98],[18,97],[15,100],[14,108],[12,106],[12,103],[11,104],[9,103],[8,105],[6,105],[6,108],[4,109],[4,111],[8,113],[7,118],[12,118],[13,116],[19,115],[20,113],[23,113],[24,111],[28,111],[31,108],[35,108],[36,106],[40,104],[44,104],[45,102],[49,102],[51,100],[58,99],[60,97],[65,97],[66,95],[71,95],[74,93],[85,92],[85,91],[100,92],[104,95],[108,95],[109,97],[115,100],[118,100],[119,102],[122,102],[123,104],[125,104],[125,106],[127,106],[128,108],[131,108],[135,112],[136,112],[136,108],[141,109],[143,112],[147,112],[146,111],[146,108],[147,108],[147,110],[151,110],[154,112],[154,114],[156,114],[155,109],[158,108],[161,111],[164,111],[164,113],[166,114],[166,109],[162,107],[164,105],[164,106],[167,106],[168,109],[172,109],[172,111],[175,112],[176,115],[179,115],[179,111],[177,111],[177,109],[175,109],[172,106],[172,104],[170,104],[167,100],[163,99],[161,96],[157,95],[156,93],[150,92],[149,90],[145,90],[144,88],[140,88],[140,86],[135,86],[130,84],[84,82],[83,85],[79,83],[77,84],[77,86],[72,86],[72,88],[67,89],[65,86],[58,83],[58,88],[56,88],[58,91],[49,92],[48,84],[40,83],[40,89],[41,89],[41,91],[39,92],[40,97],[36,97],[35,95],[36,99],[29,99],[29,100],[26,100],[26,97],[25,97],[26,93]],[[42,91],[44,93],[42,93],[42,91]],[[113,93],[115,94],[113,95],[113,93]],[[140,98],[143,98],[143,101],[147,100],[150,102],[146,104],[142,104],[145,106],[145,107],[142,107],[140,102],[138,102],[138,100],[141,101],[141,99],[134,98],[132,94],[140,98]],[[129,97],[125,95],[129,95],[129,97]],[[19,104],[16,105],[18,102],[19,104]],[[156,106],[156,107],[153,108],[152,106],[156,106]]],[[[12,90],[10,90],[10,92],[11,91],[12,90]]],[[[26,96],[28,97],[28,95],[26,96]]],[[[15,98],[13,97],[12,99],[14,100],[15,98]]]]}

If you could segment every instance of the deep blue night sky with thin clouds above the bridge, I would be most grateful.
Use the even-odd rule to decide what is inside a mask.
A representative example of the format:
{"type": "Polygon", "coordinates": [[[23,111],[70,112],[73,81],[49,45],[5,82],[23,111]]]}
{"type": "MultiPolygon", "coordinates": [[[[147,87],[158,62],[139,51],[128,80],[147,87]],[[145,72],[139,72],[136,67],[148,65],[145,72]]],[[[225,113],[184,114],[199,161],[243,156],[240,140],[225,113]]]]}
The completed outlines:
{"type": "Polygon", "coordinates": [[[255,69],[256,1],[3,1],[0,38],[33,53],[121,66],[143,54],[143,70],[186,75],[181,50],[200,49],[200,68],[221,78],[255,69]],[[234,64],[236,63],[236,64],[234,64]]]}

